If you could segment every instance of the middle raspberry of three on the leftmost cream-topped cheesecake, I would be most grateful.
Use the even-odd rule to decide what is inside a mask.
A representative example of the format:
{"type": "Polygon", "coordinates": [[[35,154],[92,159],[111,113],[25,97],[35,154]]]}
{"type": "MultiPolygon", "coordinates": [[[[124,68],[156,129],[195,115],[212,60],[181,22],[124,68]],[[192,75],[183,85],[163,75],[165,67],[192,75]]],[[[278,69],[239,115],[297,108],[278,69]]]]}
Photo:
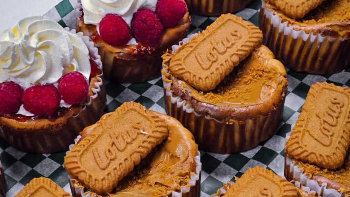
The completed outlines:
{"type": "Polygon", "coordinates": [[[37,116],[51,116],[60,105],[60,95],[52,84],[27,88],[23,93],[23,107],[37,116]]]}

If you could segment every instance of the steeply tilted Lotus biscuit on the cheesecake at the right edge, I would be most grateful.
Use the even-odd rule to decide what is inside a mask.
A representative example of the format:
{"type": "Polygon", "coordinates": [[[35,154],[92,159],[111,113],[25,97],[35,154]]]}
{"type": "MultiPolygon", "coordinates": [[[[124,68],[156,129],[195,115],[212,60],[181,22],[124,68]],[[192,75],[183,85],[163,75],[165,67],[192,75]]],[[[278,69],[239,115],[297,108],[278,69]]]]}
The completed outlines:
{"type": "Polygon", "coordinates": [[[312,85],[299,119],[286,143],[286,152],[297,160],[316,164],[319,167],[335,169],[341,166],[350,145],[349,99],[349,88],[326,82],[312,85]],[[326,110],[320,110],[318,106],[320,102],[316,99],[329,97],[331,94],[321,94],[321,91],[324,90],[343,95],[348,98],[348,103],[332,98],[329,101],[327,100],[326,110]],[[315,110],[312,110],[313,107],[315,110]],[[309,129],[307,126],[313,113],[319,121],[319,127],[309,129]],[[304,142],[306,137],[308,137],[308,143],[304,142]]]}

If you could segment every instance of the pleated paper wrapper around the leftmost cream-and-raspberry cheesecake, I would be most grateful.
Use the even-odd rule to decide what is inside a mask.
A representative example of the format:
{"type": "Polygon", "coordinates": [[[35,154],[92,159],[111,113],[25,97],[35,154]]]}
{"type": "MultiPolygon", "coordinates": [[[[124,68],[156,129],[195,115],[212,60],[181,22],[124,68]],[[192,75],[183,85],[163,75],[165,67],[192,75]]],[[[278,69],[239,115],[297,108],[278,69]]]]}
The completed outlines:
{"type": "MultiPolygon", "coordinates": [[[[69,31],[69,28],[64,30],[69,31]]],[[[70,30],[76,33],[75,30],[70,30]]],[[[76,33],[87,45],[90,53],[95,57],[95,62],[99,69],[102,69],[100,56],[94,43],[83,33],[76,33]]],[[[24,152],[49,154],[68,149],[69,144],[74,142],[74,138],[83,131],[85,127],[93,125],[99,120],[106,106],[106,92],[104,87],[103,72],[96,76],[95,88],[92,89],[93,96],[90,102],[86,103],[79,114],[68,118],[67,123],[57,131],[16,131],[11,128],[1,128],[0,136],[16,149],[24,152]]]]}

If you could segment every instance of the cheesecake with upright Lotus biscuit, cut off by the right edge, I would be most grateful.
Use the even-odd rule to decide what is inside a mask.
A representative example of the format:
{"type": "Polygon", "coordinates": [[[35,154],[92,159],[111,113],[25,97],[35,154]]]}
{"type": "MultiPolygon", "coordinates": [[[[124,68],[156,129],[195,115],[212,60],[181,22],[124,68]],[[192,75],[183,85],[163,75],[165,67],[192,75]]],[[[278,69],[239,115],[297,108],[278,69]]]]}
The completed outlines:
{"type": "Polygon", "coordinates": [[[322,197],[350,195],[350,89],[312,85],[287,134],[285,176],[322,197]]]}

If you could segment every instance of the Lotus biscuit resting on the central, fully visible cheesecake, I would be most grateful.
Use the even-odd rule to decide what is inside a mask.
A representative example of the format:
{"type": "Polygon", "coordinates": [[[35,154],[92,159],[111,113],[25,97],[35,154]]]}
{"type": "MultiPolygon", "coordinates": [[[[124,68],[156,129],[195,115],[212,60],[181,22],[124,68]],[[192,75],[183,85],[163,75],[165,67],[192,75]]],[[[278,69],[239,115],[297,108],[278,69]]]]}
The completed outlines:
{"type": "Polygon", "coordinates": [[[262,33],[254,24],[244,21],[241,17],[225,14],[207,27],[205,31],[198,33],[190,42],[177,49],[170,60],[169,69],[175,76],[185,80],[197,90],[210,91],[232,71],[234,66],[237,66],[240,61],[248,57],[261,42],[262,33]],[[236,29],[229,32],[223,28],[226,23],[229,23],[231,27],[238,27],[240,31],[236,29]],[[210,36],[214,36],[217,32],[222,34],[222,40],[220,43],[213,43],[213,40],[210,40],[210,36]],[[225,35],[225,33],[228,33],[228,35],[225,35]],[[206,39],[208,39],[208,42],[211,42],[208,43],[210,45],[208,51],[198,47],[204,45],[206,39]],[[236,42],[242,43],[236,46],[236,42]],[[227,52],[228,48],[231,48],[229,52],[227,52]],[[202,61],[201,59],[203,58],[200,58],[200,56],[203,56],[203,53],[206,54],[204,55],[206,61],[202,61]],[[186,65],[185,59],[193,54],[196,64],[186,65]],[[224,59],[223,57],[226,58],[224,59]]]}

